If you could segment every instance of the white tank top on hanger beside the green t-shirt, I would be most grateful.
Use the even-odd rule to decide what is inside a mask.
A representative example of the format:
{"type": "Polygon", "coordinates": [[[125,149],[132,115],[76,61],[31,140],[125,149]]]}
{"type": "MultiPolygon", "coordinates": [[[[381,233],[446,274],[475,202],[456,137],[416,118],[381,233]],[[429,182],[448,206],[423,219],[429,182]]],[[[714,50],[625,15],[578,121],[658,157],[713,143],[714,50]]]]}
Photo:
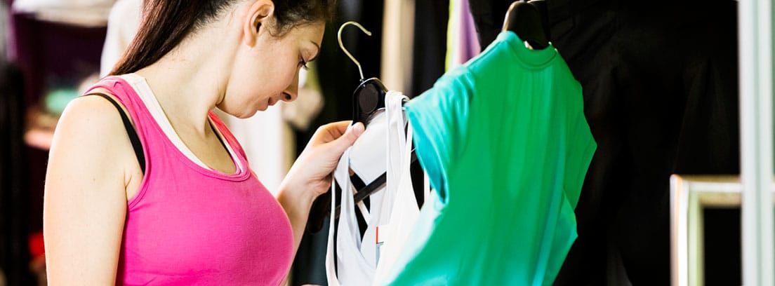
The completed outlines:
{"type": "MultiPolygon", "coordinates": [[[[356,191],[350,182],[350,166],[353,148],[348,148],[339,159],[334,171],[332,193],[335,186],[342,187],[342,203],[339,213],[339,226],[336,229],[336,269],[334,267],[334,223],[329,224],[328,249],[325,254],[325,271],[329,285],[370,285],[379,281],[394,264],[407,240],[419,209],[412,188],[409,173],[412,152],[412,128],[405,127],[408,121],[402,112],[401,103],[407,99],[397,92],[388,92],[385,97],[385,135],[387,158],[387,184],[384,189],[370,196],[370,210],[359,207],[367,230],[360,237],[355,215],[353,194],[356,191]],[[378,227],[378,229],[377,229],[378,227]],[[377,230],[381,230],[377,232],[377,230]],[[377,250],[377,234],[381,247],[377,250]],[[378,252],[378,254],[377,254],[378,252]]],[[[372,124],[369,128],[374,128],[372,124]]],[[[367,128],[367,130],[369,129],[367,128]]],[[[365,134],[365,131],[364,131],[365,134]]],[[[358,139],[360,141],[360,138],[358,139]]],[[[357,143],[357,141],[356,141],[357,143]]],[[[380,153],[381,150],[374,149],[380,153]]],[[[335,216],[336,196],[331,199],[331,217],[335,216]]]]}

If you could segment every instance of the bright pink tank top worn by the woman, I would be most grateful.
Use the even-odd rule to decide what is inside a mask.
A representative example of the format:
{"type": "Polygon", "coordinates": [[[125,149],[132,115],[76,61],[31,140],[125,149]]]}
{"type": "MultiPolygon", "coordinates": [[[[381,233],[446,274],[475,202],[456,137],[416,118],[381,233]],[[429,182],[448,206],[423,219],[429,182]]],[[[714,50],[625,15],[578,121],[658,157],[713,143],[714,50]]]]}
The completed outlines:
{"type": "Polygon", "coordinates": [[[140,191],[128,202],[116,283],[280,284],[293,259],[291,223],[222,121],[210,112],[239,160],[234,174],[191,162],[126,80],[106,77],[94,87],[129,111],[146,160],[140,191]]]}

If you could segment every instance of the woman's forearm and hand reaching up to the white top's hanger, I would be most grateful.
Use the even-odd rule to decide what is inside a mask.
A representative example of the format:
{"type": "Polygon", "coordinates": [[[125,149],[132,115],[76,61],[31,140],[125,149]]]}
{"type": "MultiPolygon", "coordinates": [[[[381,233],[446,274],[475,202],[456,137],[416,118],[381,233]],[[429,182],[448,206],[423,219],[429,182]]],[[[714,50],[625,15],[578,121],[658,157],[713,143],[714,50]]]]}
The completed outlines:
{"type": "Polygon", "coordinates": [[[307,226],[312,202],[331,189],[331,173],[339,158],[363,133],[363,124],[352,128],[349,125],[350,121],[339,121],[318,128],[280,186],[277,200],[291,220],[294,256],[307,226]]]}

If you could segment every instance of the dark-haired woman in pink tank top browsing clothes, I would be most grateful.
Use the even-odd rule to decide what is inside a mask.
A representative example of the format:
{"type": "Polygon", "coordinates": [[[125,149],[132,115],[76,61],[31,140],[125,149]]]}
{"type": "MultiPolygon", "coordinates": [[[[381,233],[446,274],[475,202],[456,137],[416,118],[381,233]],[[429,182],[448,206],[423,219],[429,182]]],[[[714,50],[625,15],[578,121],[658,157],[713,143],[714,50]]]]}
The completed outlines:
{"type": "Polygon", "coordinates": [[[57,126],[43,211],[51,284],[281,283],[363,125],[319,128],[275,199],[212,109],[250,117],[294,100],[332,1],[146,0],[115,77],[57,126]]]}

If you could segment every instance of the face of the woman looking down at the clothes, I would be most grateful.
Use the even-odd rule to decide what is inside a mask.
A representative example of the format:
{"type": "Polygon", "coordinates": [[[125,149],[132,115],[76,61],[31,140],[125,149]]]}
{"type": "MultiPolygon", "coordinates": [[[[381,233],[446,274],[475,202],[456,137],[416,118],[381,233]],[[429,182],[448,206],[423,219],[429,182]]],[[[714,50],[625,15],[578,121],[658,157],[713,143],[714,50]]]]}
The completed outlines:
{"type": "Polygon", "coordinates": [[[260,27],[253,46],[239,49],[223,100],[222,111],[239,118],[251,117],[277,102],[298,96],[298,72],[315,60],[325,22],[291,28],[282,36],[260,27]]]}

